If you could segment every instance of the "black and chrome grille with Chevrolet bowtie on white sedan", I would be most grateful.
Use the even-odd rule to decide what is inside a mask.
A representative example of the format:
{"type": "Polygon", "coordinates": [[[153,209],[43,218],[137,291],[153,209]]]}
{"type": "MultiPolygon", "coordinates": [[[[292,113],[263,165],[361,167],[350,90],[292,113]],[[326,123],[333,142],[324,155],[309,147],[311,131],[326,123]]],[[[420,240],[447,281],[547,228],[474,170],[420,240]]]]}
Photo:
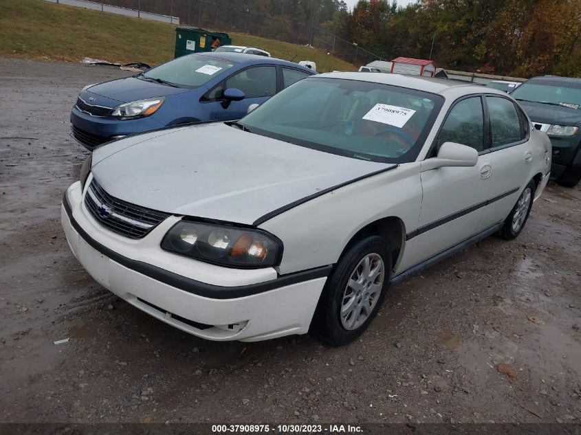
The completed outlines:
{"type": "Polygon", "coordinates": [[[85,205],[91,215],[104,227],[129,238],[143,238],[170,214],[157,212],[111,197],[96,179],[91,181],[85,205]]]}

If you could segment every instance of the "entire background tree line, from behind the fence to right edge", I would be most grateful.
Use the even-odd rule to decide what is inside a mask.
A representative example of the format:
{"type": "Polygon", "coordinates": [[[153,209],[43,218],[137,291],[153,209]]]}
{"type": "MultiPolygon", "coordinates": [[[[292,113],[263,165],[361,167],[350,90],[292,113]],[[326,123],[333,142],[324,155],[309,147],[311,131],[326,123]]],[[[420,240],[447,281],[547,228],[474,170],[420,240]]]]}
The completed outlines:
{"type": "Polygon", "coordinates": [[[105,1],[312,44],[356,63],[370,58],[351,57],[353,47],[384,60],[431,57],[446,69],[485,74],[581,76],[581,0],[417,0],[406,7],[360,0],[353,10],[342,0],[105,1]]]}

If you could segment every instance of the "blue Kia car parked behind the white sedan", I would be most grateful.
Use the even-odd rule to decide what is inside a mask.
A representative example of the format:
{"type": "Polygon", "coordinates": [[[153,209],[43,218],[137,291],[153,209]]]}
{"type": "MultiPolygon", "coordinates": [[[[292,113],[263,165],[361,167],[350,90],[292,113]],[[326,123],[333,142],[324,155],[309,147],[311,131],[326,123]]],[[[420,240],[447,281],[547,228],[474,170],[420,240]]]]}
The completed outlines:
{"type": "Polygon", "coordinates": [[[251,104],[313,74],[296,63],[252,54],[190,54],[83,89],[71,111],[72,133],[93,150],[166,126],[239,120],[251,104]]]}

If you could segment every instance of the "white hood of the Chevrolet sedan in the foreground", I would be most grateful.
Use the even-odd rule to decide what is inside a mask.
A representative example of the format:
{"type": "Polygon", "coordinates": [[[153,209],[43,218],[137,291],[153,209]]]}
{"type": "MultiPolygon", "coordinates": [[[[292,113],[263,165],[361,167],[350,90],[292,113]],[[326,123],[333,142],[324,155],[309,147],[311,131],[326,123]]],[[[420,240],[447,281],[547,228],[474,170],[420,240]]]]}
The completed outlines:
{"type": "Polygon", "coordinates": [[[94,151],[91,171],[109,194],[130,203],[252,224],[289,203],[391,166],[218,123],[112,142],[94,151]]]}

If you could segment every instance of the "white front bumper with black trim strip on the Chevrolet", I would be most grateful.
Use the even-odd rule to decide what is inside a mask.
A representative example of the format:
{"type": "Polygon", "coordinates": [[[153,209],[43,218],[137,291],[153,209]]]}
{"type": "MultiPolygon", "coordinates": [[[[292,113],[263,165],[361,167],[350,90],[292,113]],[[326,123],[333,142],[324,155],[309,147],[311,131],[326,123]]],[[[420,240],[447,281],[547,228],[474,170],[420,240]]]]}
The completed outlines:
{"type": "Polygon", "coordinates": [[[72,252],[100,285],[138,309],[219,341],[252,342],[309,330],[330,267],[276,276],[270,268],[239,270],[197,262],[159,246],[166,227],[179,218],[168,218],[170,222],[134,241],[100,227],[82,199],[80,183],[74,183],[61,207],[72,252]]]}

